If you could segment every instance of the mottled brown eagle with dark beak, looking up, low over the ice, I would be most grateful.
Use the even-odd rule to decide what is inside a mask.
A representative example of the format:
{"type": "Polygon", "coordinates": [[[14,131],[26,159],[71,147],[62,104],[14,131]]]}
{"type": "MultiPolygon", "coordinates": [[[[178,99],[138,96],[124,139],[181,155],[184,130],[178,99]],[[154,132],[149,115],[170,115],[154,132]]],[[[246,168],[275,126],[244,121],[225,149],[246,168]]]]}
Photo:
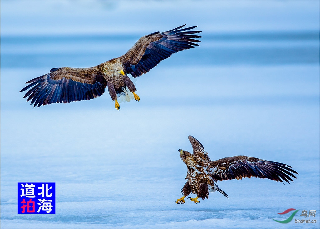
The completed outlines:
{"type": "Polygon", "coordinates": [[[193,136],[188,136],[188,138],[192,145],[193,154],[185,150],[178,150],[181,160],[186,163],[188,168],[186,177],[188,181],[181,189],[183,196],[176,201],[178,204],[185,203],[184,198],[190,193],[197,194],[196,198],[189,197],[195,203],[200,202],[198,201],[199,197],[204,200],[209,197],[209,192],[216,190],[228,197],[217,186],[215,183],[217,181],[259,177],[290,183],[291,177],[296,178],[292,173],[298,174],[286,164],[247,156],[234,156],[211,161],[208,153],[204,151],[203,145],[193,136]]]}

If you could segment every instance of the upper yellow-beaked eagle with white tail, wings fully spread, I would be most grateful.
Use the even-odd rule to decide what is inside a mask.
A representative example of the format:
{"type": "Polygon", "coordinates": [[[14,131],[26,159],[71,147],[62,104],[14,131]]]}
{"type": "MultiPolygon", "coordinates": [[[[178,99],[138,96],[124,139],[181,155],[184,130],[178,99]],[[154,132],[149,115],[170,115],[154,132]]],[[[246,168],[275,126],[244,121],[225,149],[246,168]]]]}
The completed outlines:
{"type": "Polygon", "coordinates": [[[199,46],[194,42],[200,42],[195,38],[201,36],[194,33],[201,31],[190,31],[197,26],[181,29],[184,26],[143,36],[126,54],[91,68],[53,68],[50,73],[29,80],[26,83],[29,85],[20,92],[29,89],[24,98],[29,96],[27,102],[31,100],[30,105],[34,103],[33,107],[40,107],[51,103],[90,100],[102,95],[108,87],[110,97],[119,110],[121,101],[140,100],[127,74],[136,78],[173,53],[199,46]]]}

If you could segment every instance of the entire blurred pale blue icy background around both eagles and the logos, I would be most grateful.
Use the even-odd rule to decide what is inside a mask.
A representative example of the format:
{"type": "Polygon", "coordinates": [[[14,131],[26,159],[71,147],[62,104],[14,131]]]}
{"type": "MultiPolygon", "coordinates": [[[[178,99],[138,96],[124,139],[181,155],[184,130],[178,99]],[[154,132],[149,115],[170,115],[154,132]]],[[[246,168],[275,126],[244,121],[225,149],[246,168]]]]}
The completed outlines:
{"type": "Polygon", "coordinates": [[[318,1],[1,1],[2,228],[319,228],[319,137],[318,1]],[[139,77],[139,103],[33,108],[19,93],[53,67],[94,66],[185,23],[203,31],[200,47],[139,77]],[[178,205],[188,135],[212,159],[300,175],[223,181],[230,199],[178,205]],[[26,181],[56,182],[54,216],[17,214],[26,181]],[[316,210],[317,223],[272,220],[288,208],[316,210]]]}

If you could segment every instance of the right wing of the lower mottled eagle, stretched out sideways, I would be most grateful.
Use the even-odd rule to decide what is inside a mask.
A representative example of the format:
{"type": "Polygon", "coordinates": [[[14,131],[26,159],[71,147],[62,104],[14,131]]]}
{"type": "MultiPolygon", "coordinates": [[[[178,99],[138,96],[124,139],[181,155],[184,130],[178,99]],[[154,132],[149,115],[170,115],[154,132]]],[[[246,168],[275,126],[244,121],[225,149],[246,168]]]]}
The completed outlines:
{"type": "Polygon", "coordinates": [[[247,156],[234,156],[208,162],[207,170],[212,178],[218,181],[239,180],[253,176],[290,183],[291,177],[296,178],[292,173],[298,174],[286,164],[247,156]]]}

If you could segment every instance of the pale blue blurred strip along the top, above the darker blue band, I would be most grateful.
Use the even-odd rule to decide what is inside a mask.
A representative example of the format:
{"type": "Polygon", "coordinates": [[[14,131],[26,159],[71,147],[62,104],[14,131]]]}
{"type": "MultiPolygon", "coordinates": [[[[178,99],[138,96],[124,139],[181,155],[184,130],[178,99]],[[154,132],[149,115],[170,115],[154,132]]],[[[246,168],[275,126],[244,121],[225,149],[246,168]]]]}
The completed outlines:
{"type": "Polygon", "coordinates": [[[319,1],[1,1],[1,35],[319,29],[319,1]]]}

